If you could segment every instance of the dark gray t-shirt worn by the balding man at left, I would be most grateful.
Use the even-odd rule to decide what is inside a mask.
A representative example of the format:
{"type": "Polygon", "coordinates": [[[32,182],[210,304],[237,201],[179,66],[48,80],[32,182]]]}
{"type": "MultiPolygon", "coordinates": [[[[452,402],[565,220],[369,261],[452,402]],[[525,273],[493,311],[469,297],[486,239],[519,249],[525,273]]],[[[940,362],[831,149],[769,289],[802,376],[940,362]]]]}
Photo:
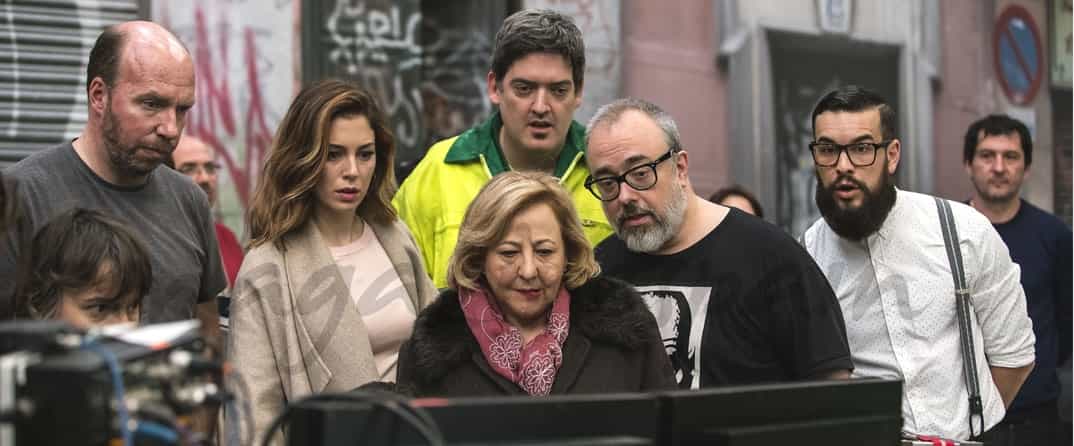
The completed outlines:
{"type": "Polygon", "coordinates": [[[145,185],[105,182],[78,157],[71,143],[34,154],[4,172],[17,182],[24,230],[11,231],[0,251],[0,307],[14,310],[15,263],[19,241],[49,218],[72,207],[105,212],[141,238],[153,263],[153,287],[142,300],[142,322],[191,319],[197,304],[227,286],[205,192],[165,167],[145,185]]]}

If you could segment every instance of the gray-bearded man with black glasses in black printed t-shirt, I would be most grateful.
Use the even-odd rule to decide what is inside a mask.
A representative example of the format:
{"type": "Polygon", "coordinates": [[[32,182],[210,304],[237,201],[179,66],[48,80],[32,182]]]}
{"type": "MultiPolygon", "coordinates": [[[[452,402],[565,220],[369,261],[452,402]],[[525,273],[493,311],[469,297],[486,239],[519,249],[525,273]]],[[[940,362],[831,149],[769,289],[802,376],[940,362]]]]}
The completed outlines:
{"type": "Polygon", "coordinates": [[[694,193],[671,116],[622,99],[586,134],[585,186],[615,229],[597,261],[645,299],[681,388],[850,376],[816,263],[780,228],[694,193]]]}

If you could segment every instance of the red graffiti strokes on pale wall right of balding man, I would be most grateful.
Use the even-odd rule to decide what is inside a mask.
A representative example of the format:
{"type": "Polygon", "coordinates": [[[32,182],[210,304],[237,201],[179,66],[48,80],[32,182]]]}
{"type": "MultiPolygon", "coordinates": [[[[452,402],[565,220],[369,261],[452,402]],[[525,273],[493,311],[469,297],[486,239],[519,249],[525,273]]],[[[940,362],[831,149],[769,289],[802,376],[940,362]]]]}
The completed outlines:
{"type": "Polygon", "coordinates": [[[243,31],[243,63],[246,64],[246,83],[249,89],[249,104],[243,112],[235,110],[235,97],[228,84],[228,37],[230,26],[221,21],[216,29],[216,42],[211,42],[201,8],[194,10],[194,73],[198,78],[195,105],[190,110],[189,134],[195,135],[213,147],[217,157],[228,169],[235,184],[235,191],[243,207],[250,200],[251,189],[257,183],[258,168],[272,144],[272,131],[265,119],[265,107],[261,95],[258,73],[258,48],[253,31],[243,31]],[[214,44],[215,43],[215,44],[214,44]],[[216,56],[214,57],[214,52],[216,56]],[[242,163],[228,150],[223,141],[234,141],[236,136],[235,114],[246,116],[246,156],[242,163]]]}

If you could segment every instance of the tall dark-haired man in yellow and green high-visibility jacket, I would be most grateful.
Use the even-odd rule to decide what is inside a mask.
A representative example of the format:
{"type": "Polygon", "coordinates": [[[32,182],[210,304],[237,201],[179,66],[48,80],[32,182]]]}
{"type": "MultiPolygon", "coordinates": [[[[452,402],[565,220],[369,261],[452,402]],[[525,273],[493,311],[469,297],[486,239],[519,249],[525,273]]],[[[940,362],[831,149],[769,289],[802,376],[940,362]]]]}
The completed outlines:
{"type": "Polygon", "coordinates": [[[497,111],[430,147],[392,200],[437,287],[447,286],[448,259],[466,207],[502,172],[555,175],[575,200],[590,243],[611,234],[600,203],[583,185],[585,129],[574,116],[582,103],[584,73],[585,46],[570,17],[524,10],[504,20],[487,77],[497,111]]]}

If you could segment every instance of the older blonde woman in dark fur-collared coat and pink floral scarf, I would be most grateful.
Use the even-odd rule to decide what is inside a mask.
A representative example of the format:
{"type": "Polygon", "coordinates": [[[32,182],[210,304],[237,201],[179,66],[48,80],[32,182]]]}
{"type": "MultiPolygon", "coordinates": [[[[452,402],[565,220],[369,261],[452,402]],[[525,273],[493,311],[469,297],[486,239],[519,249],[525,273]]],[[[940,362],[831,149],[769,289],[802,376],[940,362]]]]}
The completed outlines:
{"type": "Polygon", "coordinates": [[[400,350],[400,386],[444,397],[673,388],[641,297],[598,273],[555,177],[496,176],[466,210],[449,289],[400,350]]]}

